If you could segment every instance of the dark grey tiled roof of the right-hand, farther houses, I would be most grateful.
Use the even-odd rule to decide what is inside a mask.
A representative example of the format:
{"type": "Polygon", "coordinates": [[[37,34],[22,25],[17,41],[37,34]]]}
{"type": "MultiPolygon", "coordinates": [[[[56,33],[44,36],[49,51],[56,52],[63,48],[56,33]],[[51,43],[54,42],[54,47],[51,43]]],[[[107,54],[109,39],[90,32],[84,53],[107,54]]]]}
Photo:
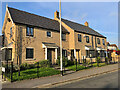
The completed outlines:
{"type": "Polygon", "coordinates": [[[106,38],[105,36],[101,35],[100,33],[96,32],[95,30],[93,30],[92,28],[90,28],[88,26],[84,26],[82,24],[75,23],[75,22],[72,22],[72,21],[69,21],[69,20],[66,20],[66,19],[62,19],[62,21],[65,24],[67,24],[70,28],[75,30],[76,32],[81,32],[81,33],[86,33],[86,34],[106,38]]]}

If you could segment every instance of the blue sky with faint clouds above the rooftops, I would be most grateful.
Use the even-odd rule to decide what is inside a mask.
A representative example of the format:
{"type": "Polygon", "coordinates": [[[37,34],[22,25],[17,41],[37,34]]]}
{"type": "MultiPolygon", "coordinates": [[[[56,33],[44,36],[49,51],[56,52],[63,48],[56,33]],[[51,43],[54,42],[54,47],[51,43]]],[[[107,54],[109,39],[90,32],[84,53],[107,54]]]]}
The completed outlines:
{"type": "MultiPolygon", "coordinates": [[[[40,16],[54,18],[59,11],[58,2],[9,2],[2,3],[2,24],[6,4],[40,16]]],[[[107,41],[118,45],[118,3],[117,2],[62,2],[62,18],[84,24],[107,37],[107,41]]],[[[2,27],[0,27],[2,29],[2,27]]],[[[1,32],[0,32],[1,34],[1,32]]]]}

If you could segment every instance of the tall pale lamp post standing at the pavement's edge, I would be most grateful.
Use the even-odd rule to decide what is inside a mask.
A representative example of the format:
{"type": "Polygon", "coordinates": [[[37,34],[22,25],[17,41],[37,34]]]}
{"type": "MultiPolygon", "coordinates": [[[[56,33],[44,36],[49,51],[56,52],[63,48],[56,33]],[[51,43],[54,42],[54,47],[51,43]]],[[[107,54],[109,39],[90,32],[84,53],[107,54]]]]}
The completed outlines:
{"type": "Polygon", "coordinates": [[[60,16],[60,66],[61,76],[63,76],[63,62],[62,62],[62,28],[61,28],[61,0],[59,1],[59,16],[60,16]]]}

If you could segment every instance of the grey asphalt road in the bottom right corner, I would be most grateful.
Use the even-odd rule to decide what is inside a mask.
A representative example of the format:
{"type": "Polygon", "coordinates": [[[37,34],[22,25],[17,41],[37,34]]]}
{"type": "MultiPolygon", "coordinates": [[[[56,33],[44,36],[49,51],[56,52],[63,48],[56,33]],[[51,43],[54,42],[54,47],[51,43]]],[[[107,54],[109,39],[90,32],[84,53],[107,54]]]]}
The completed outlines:
{"type": "Polygon", "coordinates": [[[53,88],[118,88],[118,71],[53,88]]]}

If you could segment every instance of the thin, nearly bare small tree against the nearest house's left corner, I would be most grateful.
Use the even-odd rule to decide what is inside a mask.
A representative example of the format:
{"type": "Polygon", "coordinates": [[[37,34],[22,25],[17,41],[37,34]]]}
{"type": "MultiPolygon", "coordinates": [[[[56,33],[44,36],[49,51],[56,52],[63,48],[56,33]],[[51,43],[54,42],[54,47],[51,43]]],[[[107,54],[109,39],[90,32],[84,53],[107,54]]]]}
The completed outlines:
{"type": "MultiPolygon", "coordinates": [[[[4,34],[4,32],[3,32],[4,34]]],[[[4,45],[8,45],[8,41],[13,43],[15,46],[15,58],[17,60],[18,65],[18,75],[20,76],[20,65],[22,63],[22,53],[25,52],[26,47],[28,47],[31,43],[35,41],[35,38],[27,37],[23,34],[23,28],[19,25],[16,28],[12,28],[10,33],[7,33],[8,37],[4,38],[4,45]],[[16,31],[16,32],[15,32],[16,31]],[[14,36],[14,37],[13,37],[14,36]],[[9,38],[10,37],[10,38],[9,38]]]]}

